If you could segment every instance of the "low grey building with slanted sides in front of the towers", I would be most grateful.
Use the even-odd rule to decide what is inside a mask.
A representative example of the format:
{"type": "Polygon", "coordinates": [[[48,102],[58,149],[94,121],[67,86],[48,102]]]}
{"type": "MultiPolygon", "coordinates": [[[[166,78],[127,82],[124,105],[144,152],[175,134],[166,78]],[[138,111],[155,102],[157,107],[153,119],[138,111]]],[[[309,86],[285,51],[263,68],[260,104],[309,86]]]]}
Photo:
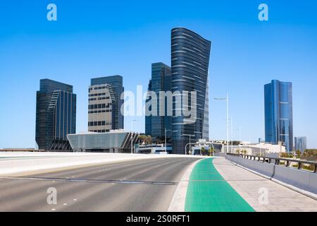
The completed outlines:
{"type": "Polygon", "coordinates": [[[139,133],[124,130],[111,130],[106,133],[69,134],[68,140],[73,150],[87,153],[131,153],[139,142],[139,133]]]}

